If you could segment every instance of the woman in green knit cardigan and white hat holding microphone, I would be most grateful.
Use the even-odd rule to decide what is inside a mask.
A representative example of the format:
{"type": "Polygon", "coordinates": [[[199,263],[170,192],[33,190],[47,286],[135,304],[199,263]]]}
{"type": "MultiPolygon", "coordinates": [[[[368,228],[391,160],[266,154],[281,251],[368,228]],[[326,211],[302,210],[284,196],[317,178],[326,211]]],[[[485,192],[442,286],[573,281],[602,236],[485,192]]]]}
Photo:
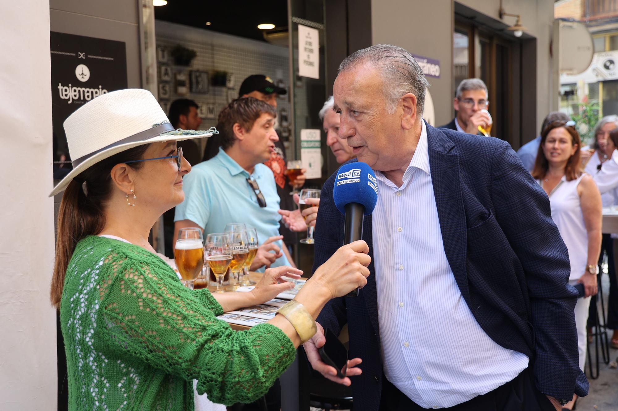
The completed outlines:
{"type": "MultiPolygon", "coordinates": [[[[184,199],[191,166],[176,141],[200,136],[155,133],[166,121],[150,93],[130,89],[93,99],[64,125],[79,161],[53,192],[66,190],[51,301],[61,313],[70,410],[193,410],[193,380],[213,402],[252,402],[301,343],[282,315],[247,331],[215,318],[268,301],[289,287],[279,276],[300,270],[271,268],[252,293],[213,296],[184,288],[148,243],[153,224],[184,199]]],[[[367,252],[363,241],[341,247],[303,286],[295,299],[314,320],[329,299],[366,283],[367,252]]],[[[357,363],[348,375],[360,373],[357,363]]]]}

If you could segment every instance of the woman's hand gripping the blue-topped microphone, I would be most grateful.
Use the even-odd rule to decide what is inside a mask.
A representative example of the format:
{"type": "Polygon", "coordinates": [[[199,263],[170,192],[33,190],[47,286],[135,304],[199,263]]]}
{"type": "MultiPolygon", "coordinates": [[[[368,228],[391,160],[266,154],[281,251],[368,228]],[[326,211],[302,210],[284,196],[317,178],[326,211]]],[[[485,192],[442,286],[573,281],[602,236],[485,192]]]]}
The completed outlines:
{"type": "Polygon", "coordinates": [[[363,240],[340,247],[324,264],[320,265],[310,281],[328,290],[330,298],[345,296],[355,288],[367,283],[371,257],[369,247],[363,240]]]}

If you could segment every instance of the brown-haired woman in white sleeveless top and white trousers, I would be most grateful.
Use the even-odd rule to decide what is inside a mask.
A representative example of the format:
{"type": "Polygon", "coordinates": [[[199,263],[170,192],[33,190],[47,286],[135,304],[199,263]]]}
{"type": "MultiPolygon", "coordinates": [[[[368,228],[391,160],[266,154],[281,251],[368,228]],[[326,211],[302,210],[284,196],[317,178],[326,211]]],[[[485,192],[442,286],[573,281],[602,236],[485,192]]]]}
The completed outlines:
{"type": "MultiPolygon", "coordinates": [[[[552,122],[541,134],[532,176],[549,196],[551,217],[569,250],[569,284],[583,283],[585,297],[577,299],[575,325],[579,365],[586,359],[586,320],[590,296],[596,294],[596,265],[601,251],[601,194],[580,167],[580,137],[574,122],[552,122]],[[568,124],[568,125],[567,125],[568,124]]],[[[572,409],[577,396],[565,408],[572,409]]]]}

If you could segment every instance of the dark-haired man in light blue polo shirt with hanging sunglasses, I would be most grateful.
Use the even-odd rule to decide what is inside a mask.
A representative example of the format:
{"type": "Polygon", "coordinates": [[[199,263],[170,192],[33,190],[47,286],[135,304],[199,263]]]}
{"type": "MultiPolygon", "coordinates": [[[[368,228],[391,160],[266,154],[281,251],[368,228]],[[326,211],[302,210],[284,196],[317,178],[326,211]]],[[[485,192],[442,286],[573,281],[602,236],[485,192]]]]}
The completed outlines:
{"type": "Polygon", "coordinates": [[[206,236],[222,233],[227,223],[247,223],[256,228],[260,241],[252,270],[293,265],[279,236],[274,175],[262,164],[279,139],[273,127],[276,115],[272,106],[250,97],[236,99],[221,111],[219,154],[193,166],[184,177],[185,200],[176,206],[174,238],[183,227],[200,226],[206,236]]]}

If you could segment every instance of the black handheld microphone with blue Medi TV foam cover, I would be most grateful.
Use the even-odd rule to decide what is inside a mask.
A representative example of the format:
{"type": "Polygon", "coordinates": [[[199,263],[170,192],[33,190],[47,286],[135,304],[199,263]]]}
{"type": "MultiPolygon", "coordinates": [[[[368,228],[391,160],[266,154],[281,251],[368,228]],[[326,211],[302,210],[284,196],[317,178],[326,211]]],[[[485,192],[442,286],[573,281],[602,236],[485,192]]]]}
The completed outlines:
{"type": "MultiPolygon", "coordinates": [[[[370,215],[378,201],[376,175],[362,162],[344,164],[337,170],[332,189],[332,199],[337,210],[345,215],[344,244],[363,238],[363,220],[370,215]]],[[[346,297],[357,297],[358,288],[346,297]]]]}

